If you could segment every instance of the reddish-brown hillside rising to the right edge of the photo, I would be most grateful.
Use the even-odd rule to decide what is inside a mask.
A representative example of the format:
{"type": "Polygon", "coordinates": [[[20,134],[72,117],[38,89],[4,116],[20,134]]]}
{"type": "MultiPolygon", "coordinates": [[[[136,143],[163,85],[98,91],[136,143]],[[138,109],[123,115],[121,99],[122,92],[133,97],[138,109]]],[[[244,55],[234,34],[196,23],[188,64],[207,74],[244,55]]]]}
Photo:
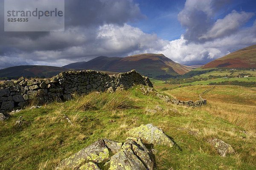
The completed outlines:
{"type": "Polygon", "coordinates": [[[256,68],[256,45],[251,45],[215,59],[202,68],[256,68]]]}

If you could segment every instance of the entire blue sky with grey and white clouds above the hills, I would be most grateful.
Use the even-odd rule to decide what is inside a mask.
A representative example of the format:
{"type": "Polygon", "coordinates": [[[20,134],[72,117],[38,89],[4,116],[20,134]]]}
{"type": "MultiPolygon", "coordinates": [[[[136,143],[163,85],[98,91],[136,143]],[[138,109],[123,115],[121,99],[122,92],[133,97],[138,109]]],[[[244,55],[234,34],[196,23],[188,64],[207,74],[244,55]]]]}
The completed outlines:
{"type": "Polygon", "coordinates": [[[65,0],[64,32],[5,32],[3,3],[0,69],[142,53],[202,65],[256,44],[255,0],[65,0]]]}

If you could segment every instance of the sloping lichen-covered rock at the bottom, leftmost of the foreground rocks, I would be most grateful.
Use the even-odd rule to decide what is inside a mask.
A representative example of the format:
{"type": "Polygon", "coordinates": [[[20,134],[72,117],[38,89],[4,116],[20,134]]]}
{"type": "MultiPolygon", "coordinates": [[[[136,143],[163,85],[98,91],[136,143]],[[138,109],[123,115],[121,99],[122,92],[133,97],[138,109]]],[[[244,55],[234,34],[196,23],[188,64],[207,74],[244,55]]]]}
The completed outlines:
{"type": "Polygon", "coordinates": [[[102,140],[98,140],[90,146],[80,150],[74,155],[61,161],[59,167],[80,167],[86,161],[94,163],[102,163],[110,159],[109,151],[102,140]]]}

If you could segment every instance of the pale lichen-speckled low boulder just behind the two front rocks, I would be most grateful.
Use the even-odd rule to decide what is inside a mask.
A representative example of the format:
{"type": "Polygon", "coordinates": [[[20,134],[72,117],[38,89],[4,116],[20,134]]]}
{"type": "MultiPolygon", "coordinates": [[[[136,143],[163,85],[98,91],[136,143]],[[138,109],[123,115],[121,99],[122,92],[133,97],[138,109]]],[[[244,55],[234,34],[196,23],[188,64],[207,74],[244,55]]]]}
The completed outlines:
{"type": "Polygon", "coordinates": [[[152,124],[134,127],[127,132],[128,136],[140,138],[145,144],[160,144],[172,147],[174,142],[163,132],[163,130],[152,124]]]}

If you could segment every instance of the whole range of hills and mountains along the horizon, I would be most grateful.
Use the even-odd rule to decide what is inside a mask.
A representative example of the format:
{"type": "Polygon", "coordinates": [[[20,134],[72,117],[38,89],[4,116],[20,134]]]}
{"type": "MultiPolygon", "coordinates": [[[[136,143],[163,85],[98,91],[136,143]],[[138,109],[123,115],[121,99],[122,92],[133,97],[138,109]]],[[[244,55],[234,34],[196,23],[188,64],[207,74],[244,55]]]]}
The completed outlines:
{"type": "MultiPolygon", "coordinates": [[[[198,66],[197,66],[198,67],[198,66]]],[[[52,77],[62,71],[97,70],[108,74],[131,71],[135,69],[141,74],[156,78],[168,79],[186,74],[195,67],[172,61],[163,54],[138,54],[128,57],[100,56],[87,62],[74,62],[63,67],[45,65],[20,65],[0,70],[0,79],[16,79],[18,77],[52,77]],[[2,77],[2,78],[1,78],[2,77]]],[[[215,59],[201,68],[256,68],[256,45],[240,49],[224,57],[215,59]]]]}

